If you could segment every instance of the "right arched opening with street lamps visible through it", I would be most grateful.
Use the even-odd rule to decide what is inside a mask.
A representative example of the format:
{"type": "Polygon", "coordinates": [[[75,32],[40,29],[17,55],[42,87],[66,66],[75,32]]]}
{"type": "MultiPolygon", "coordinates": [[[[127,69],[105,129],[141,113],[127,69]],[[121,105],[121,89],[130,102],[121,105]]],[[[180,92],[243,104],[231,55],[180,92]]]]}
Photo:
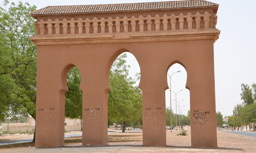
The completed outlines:
{"type": "MultiPolygon", "coordinates": [[[[187,71],[179,63],[173,64],[167,71],[169,89],[165,90],[167,145],[183,146],[173,141],[177,134],[186,131],[190,137],[190,92],[186,89],[187,71]],[[170,79],[171,78],[171,79],[170,79]],[[171,80],[171,85],[170,85],[171,80]],[[171,87],[170,87],[171,86],[171,87]],[[171,89],[171,91],[170,91],[171,89]],[[171,97],[170,97],[171,94],[171,97]],[[171,107],[170,107],[171,105],[171,107]],[[171,108],[171,109],[170,109],[171,108]],[[171,124],[172,123],[172,124],[171,124]]],[[[188,141],[191,146],[191,142],[188,141]]]]}

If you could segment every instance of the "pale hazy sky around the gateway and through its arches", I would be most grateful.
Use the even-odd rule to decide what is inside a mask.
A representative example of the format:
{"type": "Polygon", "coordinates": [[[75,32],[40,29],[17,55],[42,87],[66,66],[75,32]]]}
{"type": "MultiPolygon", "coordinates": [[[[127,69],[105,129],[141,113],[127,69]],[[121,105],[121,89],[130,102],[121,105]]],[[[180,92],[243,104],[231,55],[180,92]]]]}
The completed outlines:
{"type": "MultiPolygon", "coordinates": [[[[19,0],[10,0],[17,3],[19,0]]],[[[50,5],[79,4],[113,4],[130,2],[154,2],[155,0],[20,0],[36,5],[38,9],[50,5]]],[[[169,0],[158,0],[169,1],[169,0]]],[[[256,20],[255,0],[209,0],[220,4],[218,9],[217,28],[221,31],[219,39],[214,44],[216,111],[223,116],[232,115],[234,105],[240,100],[241,83],[252,85],[256,83],[256,20]]],[[[2,0],[3,2],[3,0],[2,0]]],[[[157,2],[157,1],[155,1],[157,2]]],[[[133,55],[128,54],[128,64],[131,65],[131,77],[140,71],[138,62],[133,55]]],[[[178,91],[177,101],[180,102],[183,114],[189,110],[189,90],[185,90],[187,72],[175,64],[168,74],[174,74],[171,90],[178,91]]],[[[169,83],[169,79],[168,79],[169,83]]],[[[175,95],[172,94],[172,108],[175,112],[175,95]]],[[[166,106],[170,106],[169,91],[166,91],[166,106]]]]}

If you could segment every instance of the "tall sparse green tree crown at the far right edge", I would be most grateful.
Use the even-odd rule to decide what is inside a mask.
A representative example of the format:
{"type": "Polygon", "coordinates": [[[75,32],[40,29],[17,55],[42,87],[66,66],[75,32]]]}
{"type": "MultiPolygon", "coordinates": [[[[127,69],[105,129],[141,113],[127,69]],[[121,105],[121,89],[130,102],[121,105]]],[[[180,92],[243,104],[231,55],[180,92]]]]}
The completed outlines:
{"type": "Polygon", "coordinates": [[[254,103],[254,98],[252,96],[252,89],[250,88],[249,85],[245,85],[244,83],[241,85],[241,90],[242,93],[241,95],[241,100],[243,100],[243,104],[249,105],[254,103]]]}

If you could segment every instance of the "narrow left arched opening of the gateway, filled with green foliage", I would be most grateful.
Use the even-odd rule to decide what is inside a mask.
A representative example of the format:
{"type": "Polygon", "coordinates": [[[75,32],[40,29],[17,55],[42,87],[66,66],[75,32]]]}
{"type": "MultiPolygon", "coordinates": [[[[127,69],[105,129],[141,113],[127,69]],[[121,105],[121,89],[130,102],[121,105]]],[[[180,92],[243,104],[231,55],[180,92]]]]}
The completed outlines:
{"type": "MultiPolygon", "coordinates": [[[[67,72],[67,87],[65,93],[65,133],[76,131],[82,145],[82,90],[80,89],[81,75],[74,66],[67,72]]],[[[67,140],[69,142],[71,140],[67,140]]],[[[66,143],[66,141],[65,141],[66,143]]]]}

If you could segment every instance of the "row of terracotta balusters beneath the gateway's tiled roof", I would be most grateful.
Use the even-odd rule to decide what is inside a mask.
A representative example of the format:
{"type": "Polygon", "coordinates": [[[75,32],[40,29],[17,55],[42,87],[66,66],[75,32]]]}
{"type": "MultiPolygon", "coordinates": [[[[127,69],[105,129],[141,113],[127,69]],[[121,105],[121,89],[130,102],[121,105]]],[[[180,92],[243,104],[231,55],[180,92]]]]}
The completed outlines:
{"type": "MultiPolygon", "coordinates": [[[[183,15],[175,15],[172,13],[170,16],[164,14],[160,16],[156,14],[154,17],[147,15],[143,17],[140,15],[138,18],[132,16],[128,18],[124,16],[122,19],[116,17],[102,17],[98,19],[94,17],[90,20],[88,17],[85,20],[78,18],[78,20],[67,20],[64,18],[62,21],[47,21],[40,20],[36,23],[40,29],[40,35],[58,35],[58,34],[90,34],[90,33],[128,33],[128,32],[143,32],[143,31],[169,31],[169,30],[191,30],[191,29],[208,29],[210,16],[208,11],[204,14],[197,12],[196,14],[187,13],[183,15]]],[[[216,25],[217,16],[214,15],[214,26],[216,25]]]]}

